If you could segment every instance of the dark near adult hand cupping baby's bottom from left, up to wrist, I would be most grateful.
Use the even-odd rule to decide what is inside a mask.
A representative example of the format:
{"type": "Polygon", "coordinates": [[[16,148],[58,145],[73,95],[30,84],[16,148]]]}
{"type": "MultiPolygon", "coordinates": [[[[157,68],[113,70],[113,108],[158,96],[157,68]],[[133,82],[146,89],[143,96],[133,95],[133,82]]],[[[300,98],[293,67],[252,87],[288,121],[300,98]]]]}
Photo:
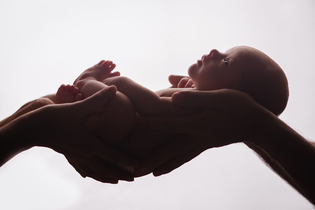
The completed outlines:
{"type": "Polygon", "coordinates": [[[133,174],[118,169],[109,162],[126,166],[139,163],[106,145],[85,128],[85,121],[89,117],[102,115],[104,106],[116,91],[115,86],[110,86],[82,101],[48,105],[39,109],[38,114],[32,117],[47,119],[38,133],[46,134],[47,138],[37,138],[40,140],[34,144],[49,147],[65,155],[68,162],[83,177],[88,176],[112,184],[118,183],[118,180],[133,181],[133,174]]]}

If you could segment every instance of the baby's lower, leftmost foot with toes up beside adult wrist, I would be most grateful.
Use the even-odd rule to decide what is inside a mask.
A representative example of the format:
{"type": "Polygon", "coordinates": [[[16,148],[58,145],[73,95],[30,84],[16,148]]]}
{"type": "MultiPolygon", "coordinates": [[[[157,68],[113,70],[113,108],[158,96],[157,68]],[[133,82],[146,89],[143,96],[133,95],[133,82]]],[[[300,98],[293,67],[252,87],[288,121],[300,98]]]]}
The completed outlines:
{"type": "Polygon", "coordinates": [[[62,84],[56,93],[56,104],[73,103],[82,99],[82,94],[79,94],[79,88],[74,85],[62,84]]]}

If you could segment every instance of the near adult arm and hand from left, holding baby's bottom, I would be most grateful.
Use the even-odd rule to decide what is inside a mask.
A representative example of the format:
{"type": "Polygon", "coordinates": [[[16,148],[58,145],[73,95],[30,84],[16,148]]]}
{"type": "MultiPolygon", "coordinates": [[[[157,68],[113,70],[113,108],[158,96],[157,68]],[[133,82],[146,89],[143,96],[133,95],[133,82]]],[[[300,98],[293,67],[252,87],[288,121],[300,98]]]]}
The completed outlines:
{"type": "Polygon", "coordinates": [[[108,183],[132,181],[132,174],[107,161],[127,166],[135,166],[137,161],[101,142],[84,124],[89,117],[105,111],[104,105],[116,90],[112,86],[83,101],[47,105],[4,125],[0,128],[0,166],[24,150],[44,146],[65,155],[83,177],[108,183]]]}

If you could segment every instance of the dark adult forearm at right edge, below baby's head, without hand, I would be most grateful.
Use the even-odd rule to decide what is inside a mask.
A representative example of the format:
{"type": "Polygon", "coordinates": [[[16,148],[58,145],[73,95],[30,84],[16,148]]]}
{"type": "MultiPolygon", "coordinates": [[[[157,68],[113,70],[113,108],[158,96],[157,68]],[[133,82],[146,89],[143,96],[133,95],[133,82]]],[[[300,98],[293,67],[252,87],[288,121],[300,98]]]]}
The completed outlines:
{"type": "Polygon", "coordinates": [[[281,120],[276,120],[252,148],[283,179],[315,204],[315,146],[281,120]]]}

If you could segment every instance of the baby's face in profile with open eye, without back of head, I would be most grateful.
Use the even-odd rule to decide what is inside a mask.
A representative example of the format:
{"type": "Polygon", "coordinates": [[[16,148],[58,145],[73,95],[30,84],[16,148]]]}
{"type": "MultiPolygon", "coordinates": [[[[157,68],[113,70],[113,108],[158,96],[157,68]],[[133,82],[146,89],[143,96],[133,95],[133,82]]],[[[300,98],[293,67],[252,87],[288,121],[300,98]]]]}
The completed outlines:
{"type": "Polygon", "coordinates": [[[213,49],[188,68],[188,75],[198,90],[237,89],[242,72],[249,66],[245,53],[248,50],[245,46],[231,48],[225,53],[213,49]]]}

